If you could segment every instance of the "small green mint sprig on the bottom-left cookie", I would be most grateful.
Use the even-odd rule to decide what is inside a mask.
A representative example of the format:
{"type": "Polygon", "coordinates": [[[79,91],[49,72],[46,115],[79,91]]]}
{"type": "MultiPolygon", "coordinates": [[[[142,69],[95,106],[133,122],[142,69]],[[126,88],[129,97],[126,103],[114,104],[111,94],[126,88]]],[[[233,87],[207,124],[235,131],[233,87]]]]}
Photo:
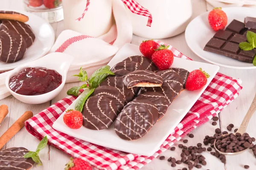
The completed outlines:
{"type": "Polygon", "coordinates": [[[44,138],[38,144],[38,147],[36,148],[35,152],[29,151],[28,153],[26,153],[24,155],[24,158],[32,158],[32,160],[35,163],[37,163],[38,165],[41,165],[42,161],[40,160],[38,153],[40,152],[40,150],[42,150],[42,149],[44,149],[44,147],[46,147],[47,142],[48,142],[48,138],[47,138],[47,136],[44,136],[44,138]]]}

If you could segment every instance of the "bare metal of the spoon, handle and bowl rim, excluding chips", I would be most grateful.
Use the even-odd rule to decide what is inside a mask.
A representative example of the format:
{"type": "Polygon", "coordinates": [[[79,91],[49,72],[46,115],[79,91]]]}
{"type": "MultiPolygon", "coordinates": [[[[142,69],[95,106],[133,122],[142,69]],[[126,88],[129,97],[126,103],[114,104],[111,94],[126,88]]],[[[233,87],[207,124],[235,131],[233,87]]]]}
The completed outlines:
{"type": "MultiPolygon", "coordinates": [[[[250,105],[250,108],[249,110],[247,111],[246,115],[244,116],[244,120],[243,122],[241,123],[239,129],[236,131],[236,133],[240,133],[241,135],[245,133],[246,131],[246,128],[247,128],[247,125],[250,121],[250,118],[253,116],[253,113],[256,111],[256,94],[254,96],[254,99],[253,99],[253,102],[252,104],[250,105]]],[[[224,135],[221,135],[221,136],[224,136],[224,135]]],[[[239,153],[242,153],[244,152],[245,150],[248,150],[248,148],[244,149],[244,150],[241,150],[239,152],[233,152],[233,153],[226,153],[226,152],[221,152],[220,150],[217,149],[217,147],[215,146],[215,142],[216,142],[216,139],[214,140],[214,148],[215,150],[217,150],[219,153],[223,154],[223,155],[236,155],[236,154],[239,154],[239,153]]]]}

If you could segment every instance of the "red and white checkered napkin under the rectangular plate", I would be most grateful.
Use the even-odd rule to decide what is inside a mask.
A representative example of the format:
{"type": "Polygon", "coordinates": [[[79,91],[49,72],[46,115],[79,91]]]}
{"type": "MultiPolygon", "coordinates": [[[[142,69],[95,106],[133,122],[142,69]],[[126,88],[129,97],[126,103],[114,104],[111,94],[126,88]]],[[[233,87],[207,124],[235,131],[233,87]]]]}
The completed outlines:
{"type": "MultiPolygon", "coordinates": [[[[159,42],[163,44],[162,42],[159,42]]],[[[175,48],[170,46],[176,57],[189,59],[175,48]]],[[[80,157],[93,166],[104,170],[138,170],[160,153],[168,149],[172,144],[180,140],[187,133],[208,122],[227,105],[230,104],[241,90],[241,80],[233,79],[224,74],[217,73],[204,93],[190,109],[185,118],[175,127],[165,142],[154,155],[140,156],[131,153],[124,153],[119,150],[105,148],[96,144],[82,141],[68,136],[52,128],[53,122],[71,105],[76,99],[68,96],[55,103],[41,113],[38,113],[26,122],[26,129],[38,139],[47,135],[49,144],[70,154],[73,157],[80,157]]]]}

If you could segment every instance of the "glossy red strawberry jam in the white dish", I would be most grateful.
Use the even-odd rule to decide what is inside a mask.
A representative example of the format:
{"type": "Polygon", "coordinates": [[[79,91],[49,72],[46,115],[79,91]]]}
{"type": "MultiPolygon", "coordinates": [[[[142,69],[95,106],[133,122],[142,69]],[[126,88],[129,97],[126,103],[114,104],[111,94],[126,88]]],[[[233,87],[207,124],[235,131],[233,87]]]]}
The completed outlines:
{"type": "Polygon", "coordinates": [[[9,86],[17,94],[35,96],[53,91],[61,85],[62,76],[47,68],[25,68],[12,77],[9,86]]]}

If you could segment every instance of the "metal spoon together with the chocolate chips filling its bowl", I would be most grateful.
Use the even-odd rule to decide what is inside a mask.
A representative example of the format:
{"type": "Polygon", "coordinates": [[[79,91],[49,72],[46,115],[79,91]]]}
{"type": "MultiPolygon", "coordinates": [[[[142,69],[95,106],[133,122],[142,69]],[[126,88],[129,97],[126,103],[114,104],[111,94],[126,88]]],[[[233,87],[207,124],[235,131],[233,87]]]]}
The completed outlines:
{"type": "Polygon", "coordinates": [[[236,133],[229,133],[216,137],[214,141],[214,148],[218,150],[219,153],[224,155],[235,155],[242,153],[253,146],[252,142],[255,141],[255,138],[251,138],[249,134],[246,133],[246,127],[255,111],[256,95],[254,96],[253,102],[236,133]]]}

